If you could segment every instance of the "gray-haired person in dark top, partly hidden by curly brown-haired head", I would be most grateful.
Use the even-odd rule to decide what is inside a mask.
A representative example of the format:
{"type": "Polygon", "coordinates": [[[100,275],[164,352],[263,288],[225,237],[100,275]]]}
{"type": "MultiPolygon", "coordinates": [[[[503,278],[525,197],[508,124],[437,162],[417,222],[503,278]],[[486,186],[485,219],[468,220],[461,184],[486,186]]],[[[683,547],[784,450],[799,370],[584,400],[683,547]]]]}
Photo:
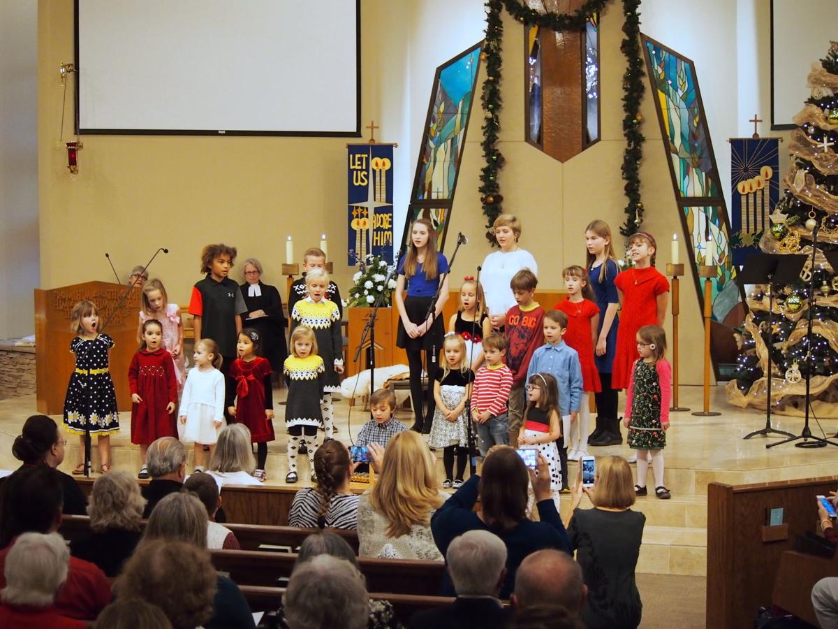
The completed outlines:
{"type": "MultiPolygon", "coordinates": [[[[169,494],[154,507],[148,518],[146,532],[137,546],[135,556],[142,556],[147,542],[163,539],[168,542],[188,542],[200,550],[207,548],[207,510],[190,493],[169,494]]],[[[213,571],[217,592],[213,601],[213,616],[204,623],[209,627],[254,627],[251,609],[239,586],[228,577],[213,571]]],[[[168,616],[168,614],[167,614],[168,616]]],[[[169,616],[169,620],[172,617],[169,616]]],[[[174,622],[172,622],[174,624],[174,622]]]]}

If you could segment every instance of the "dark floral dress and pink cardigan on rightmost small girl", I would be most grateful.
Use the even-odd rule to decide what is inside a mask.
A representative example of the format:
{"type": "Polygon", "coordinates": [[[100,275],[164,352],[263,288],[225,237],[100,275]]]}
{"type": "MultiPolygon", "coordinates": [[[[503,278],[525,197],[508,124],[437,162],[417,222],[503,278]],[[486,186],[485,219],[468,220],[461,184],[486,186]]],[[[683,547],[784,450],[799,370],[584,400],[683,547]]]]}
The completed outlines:
{"type": "Polygon", "coordinates": [[[670,384],[670,363],[665,359],[654,365],[643,360],[634,361],[626,397],[629,448],[660,450],[666,446],[661,422],[669,422],[670,384]]]}

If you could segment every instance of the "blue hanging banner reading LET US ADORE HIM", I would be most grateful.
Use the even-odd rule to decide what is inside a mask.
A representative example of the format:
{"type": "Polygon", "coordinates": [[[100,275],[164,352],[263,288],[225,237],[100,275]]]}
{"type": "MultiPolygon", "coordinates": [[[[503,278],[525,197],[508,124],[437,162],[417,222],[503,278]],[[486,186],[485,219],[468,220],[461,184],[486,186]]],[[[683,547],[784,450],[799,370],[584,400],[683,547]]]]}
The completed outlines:
{"type": "Polygon", "coordinates": [[[349,144],[349,266],[393,263],[393,144],[349,144]]]}

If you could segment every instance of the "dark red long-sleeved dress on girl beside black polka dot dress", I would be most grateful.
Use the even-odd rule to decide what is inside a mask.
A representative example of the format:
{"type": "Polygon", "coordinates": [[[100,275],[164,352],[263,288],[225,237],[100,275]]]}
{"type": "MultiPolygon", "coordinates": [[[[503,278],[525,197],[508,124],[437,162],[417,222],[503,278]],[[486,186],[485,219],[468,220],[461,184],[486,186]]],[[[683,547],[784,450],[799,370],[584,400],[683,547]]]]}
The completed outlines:
{"type": "Polygon", "coordinates": [[[177,437],[178,424],[174,413],[166,407],[178,405],[178,378],[172,355],[163,348],[158,351],[140,350],[128,367],[131,394],[142,398],[131,405],[131,443],[151,444],[160,437],[177,437]]]}

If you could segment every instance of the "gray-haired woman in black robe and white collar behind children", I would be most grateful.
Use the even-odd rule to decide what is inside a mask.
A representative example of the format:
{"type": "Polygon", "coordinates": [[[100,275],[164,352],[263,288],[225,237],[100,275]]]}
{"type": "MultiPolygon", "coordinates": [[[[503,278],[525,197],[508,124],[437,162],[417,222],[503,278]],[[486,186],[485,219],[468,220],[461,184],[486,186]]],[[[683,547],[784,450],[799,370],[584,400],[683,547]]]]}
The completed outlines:
{"type": "Polygon", "coordinates": [[[282,297],[276,286],[261,283],[261,263],[255,257],[247,258],[241,266],[245,283],[239,290],[247,306],[247,312],[242,314],[243,325],[259,332],[263,339],[264,356],[271,361],[272,372],[282,378],[282,363],[288,356],[285,342],[287,321],[282,311],[282,297]]]}

